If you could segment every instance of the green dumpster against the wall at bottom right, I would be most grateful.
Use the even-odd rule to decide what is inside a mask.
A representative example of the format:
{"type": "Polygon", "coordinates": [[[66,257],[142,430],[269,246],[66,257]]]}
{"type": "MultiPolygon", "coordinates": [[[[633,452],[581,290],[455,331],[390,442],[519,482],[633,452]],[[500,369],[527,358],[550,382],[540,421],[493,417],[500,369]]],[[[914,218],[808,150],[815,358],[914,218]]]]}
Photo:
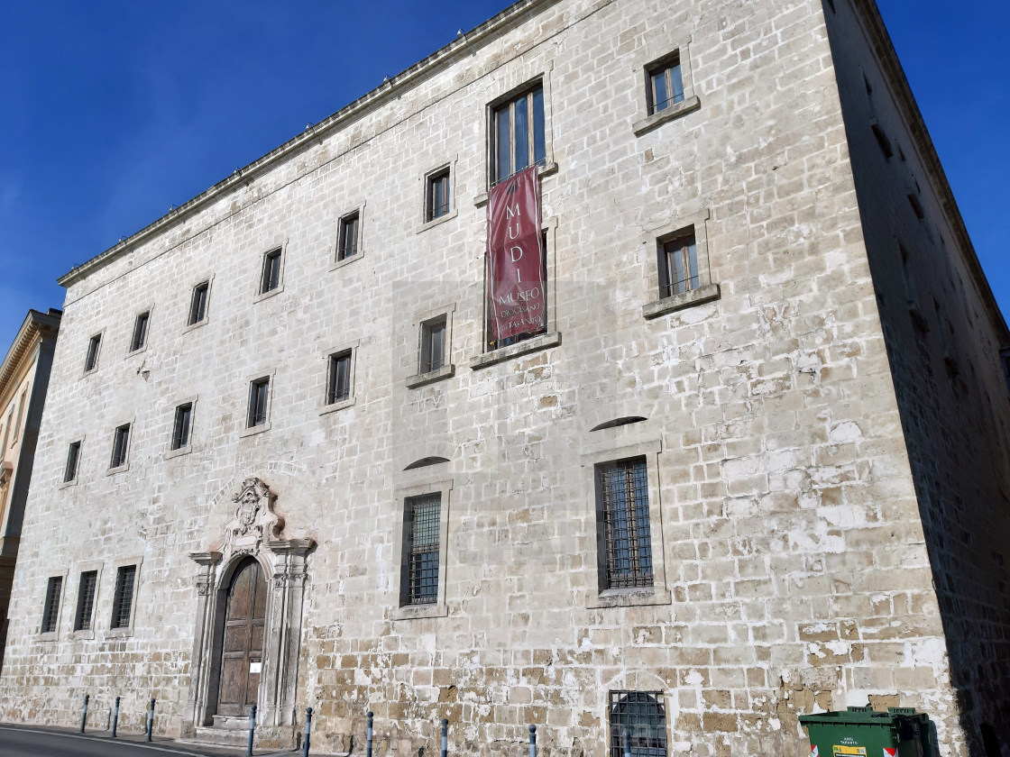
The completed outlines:
{"type": "Polygon", "coordinates": [[[939,757],[929,716],[913,708],[849,708],[843,713],[801,715],[811,757],[939,757]]]}

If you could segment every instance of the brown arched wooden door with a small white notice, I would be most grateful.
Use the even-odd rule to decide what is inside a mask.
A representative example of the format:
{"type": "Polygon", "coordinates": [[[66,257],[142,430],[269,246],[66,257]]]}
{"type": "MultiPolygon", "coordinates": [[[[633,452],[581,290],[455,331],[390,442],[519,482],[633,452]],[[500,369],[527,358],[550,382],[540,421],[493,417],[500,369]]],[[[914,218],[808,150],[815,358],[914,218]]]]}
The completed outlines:
{"type": "Polygon", "coordinates": [[[257,704],[263,670],[267,581],[251,557],[235,568],[228,586],[221,639],[217,714],[248,715],[257,704]]]}

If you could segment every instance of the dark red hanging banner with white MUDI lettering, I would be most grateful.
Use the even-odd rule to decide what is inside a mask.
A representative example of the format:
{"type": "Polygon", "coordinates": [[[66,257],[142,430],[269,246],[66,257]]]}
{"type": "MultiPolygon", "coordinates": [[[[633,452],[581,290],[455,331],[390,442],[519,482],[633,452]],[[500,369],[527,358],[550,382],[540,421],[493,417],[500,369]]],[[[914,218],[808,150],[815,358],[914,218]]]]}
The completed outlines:
{"type": "Polygon", "coordinates": [[[540,183],[531,166],[495,185],[488,199],[490,339],[546,326],[540,183]]]}

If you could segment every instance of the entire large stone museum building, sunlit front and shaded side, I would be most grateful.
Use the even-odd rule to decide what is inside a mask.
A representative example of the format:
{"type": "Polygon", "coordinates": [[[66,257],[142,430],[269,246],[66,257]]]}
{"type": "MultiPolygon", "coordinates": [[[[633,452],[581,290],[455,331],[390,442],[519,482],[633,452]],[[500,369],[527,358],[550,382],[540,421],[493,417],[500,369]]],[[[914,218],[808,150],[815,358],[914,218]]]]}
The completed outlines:
{"type": "Polygon", "coordinates": [[[5,720],[1010,743],[1010,334],[872,2],[523,0],[61,282],[5,720]],[[547,328],[491,344],[527,160],[547,328]]]}

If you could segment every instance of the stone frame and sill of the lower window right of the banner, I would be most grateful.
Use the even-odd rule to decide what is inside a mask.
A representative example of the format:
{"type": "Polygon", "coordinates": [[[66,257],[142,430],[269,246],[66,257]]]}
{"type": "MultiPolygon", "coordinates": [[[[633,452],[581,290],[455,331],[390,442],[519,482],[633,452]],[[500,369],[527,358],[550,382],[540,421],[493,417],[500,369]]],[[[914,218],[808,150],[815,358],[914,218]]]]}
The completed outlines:
{"type": "Polygon", "coordinates": [[[646,249],[644,266],[646,291],[653,298],[645,303],[641,309],[641,314],[646,320],[659,318],[692,305],[701,305],[719,299],[719,285],[712,283],[711,254],[708,243],[710,217],[709,209],[701,208],[683,213],[664,222],[663,225],[651,225],[642,230],[638,240],[646,249]],[[686,236],[689,233],[693,234],[695,238],[699,286],[683,295],[660,297],[660,249],[664,242],[686,236]]]}

